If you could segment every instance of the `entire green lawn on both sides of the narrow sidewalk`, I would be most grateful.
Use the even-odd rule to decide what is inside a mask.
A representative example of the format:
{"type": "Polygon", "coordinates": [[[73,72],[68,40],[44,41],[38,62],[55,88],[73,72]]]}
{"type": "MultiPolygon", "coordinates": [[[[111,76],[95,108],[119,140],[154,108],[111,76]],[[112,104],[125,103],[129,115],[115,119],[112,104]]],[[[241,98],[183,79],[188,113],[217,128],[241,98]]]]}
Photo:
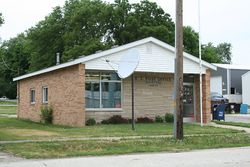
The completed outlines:
{"type": "Polygon", "coordinates": [[[144,136],[137,139],[47,141],[17,144],[0,144],[0,151],[25,158],[57,158],[87,155],[126,154],[138,152],[184,151],[192,149],[250,146],[249,134],[241,131],[194,124],[184,124],[185,135],[209,134],[206,136],[185,136],[183,141],[171,137],[148,138],[152,135],[172,135],[172,124],[95,125],[72,128],[43,125],[16,118],[0,117],[0,140],[28,140],[74,137],[144,136]]]}

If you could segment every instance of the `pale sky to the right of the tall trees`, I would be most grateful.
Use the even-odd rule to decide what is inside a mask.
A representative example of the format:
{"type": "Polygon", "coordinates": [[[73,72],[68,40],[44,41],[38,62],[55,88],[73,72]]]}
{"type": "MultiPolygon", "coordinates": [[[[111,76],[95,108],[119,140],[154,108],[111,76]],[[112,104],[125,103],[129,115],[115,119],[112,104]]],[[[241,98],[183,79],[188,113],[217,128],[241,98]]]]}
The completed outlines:
{"type": "MultiPolygon", "coordinates": [[[[175,18],[175,0],[154,0],[175,18]]],[[[198,31],[198,0],[183,0],[183,22],[198,31]]],[[[231,43],[233,63],[250,64],[250,1],[200,0],[202,43],[231,43]]]]}

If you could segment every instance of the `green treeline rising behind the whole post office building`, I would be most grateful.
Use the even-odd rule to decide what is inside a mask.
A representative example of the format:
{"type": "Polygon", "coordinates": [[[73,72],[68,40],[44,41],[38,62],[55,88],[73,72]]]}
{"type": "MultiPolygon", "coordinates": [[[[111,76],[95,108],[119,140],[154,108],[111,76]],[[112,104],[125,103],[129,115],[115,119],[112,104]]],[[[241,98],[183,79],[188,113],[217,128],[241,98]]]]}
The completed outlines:
{"type": "MultiPolygon", "coordinates": [[[[0,13],[0,26],[3,22],[0,13]]],[[[185,51],[198,57],[198,33],[189,26],[183,30],[185,51]]],[[[0,96],[14,97],[12,78],[55,65],[57,52],[66,62],[149,36],[174,46],[174,22],[155,2],[67,0],[24,34],[1,45],[0,96]]],[[[205,44],[202,58],[210,63],[230,63],[231,44],[205,44]]]]}

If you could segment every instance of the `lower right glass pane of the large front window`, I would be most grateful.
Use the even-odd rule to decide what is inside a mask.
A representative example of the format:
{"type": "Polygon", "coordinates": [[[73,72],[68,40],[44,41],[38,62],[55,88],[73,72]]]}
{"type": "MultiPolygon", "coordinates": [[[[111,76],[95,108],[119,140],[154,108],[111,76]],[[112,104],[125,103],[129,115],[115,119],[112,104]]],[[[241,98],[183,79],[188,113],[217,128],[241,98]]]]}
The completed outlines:
{"type": "Polygon", "coordinates": [[[121,108],[121,83],[102,83],[102,107],[121,108]]]}

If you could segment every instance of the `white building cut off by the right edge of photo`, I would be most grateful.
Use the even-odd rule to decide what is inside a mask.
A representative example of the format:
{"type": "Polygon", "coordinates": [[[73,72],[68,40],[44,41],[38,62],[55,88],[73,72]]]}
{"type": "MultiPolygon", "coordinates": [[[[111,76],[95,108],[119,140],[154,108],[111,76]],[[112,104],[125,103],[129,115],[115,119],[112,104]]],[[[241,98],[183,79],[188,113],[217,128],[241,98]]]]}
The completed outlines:
{"type": "Polygon", "coordinates": [[[242,75],[242,103],[250,106],[250,72],[242,75]]]}

